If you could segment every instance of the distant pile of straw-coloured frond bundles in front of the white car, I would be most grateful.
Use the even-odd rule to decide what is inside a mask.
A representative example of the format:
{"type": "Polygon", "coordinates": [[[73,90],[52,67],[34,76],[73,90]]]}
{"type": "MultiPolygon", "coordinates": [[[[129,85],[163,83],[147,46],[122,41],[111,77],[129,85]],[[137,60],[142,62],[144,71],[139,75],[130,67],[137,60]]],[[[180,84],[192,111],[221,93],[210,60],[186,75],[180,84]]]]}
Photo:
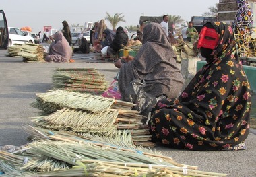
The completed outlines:
{"type": "Polygon", "coordinates": [[[13,45],[7,49],[9,57],[23,57],[24,62],[44,62],[45,50],[39,44],[13,45]]]}

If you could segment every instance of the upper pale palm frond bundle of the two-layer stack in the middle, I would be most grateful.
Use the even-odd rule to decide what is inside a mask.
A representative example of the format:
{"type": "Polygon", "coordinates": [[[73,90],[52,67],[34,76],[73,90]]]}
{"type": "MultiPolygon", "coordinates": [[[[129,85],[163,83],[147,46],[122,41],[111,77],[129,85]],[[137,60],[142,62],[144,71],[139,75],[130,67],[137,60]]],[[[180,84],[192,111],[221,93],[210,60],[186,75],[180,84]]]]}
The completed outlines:
{"type": "Polygon", "coordinates": [[[135,104],[131,102],[123,102],[113,98],[69,92],[66,90],[49,90],[49,92],[46,93],[36,94],[36,96],[36,102],[32,103],[32,106],[49,113],[64,107],[88,110],[91,112],[102,112],[110,108],[131,110],[131,108],[135,106],[135,104]]]}

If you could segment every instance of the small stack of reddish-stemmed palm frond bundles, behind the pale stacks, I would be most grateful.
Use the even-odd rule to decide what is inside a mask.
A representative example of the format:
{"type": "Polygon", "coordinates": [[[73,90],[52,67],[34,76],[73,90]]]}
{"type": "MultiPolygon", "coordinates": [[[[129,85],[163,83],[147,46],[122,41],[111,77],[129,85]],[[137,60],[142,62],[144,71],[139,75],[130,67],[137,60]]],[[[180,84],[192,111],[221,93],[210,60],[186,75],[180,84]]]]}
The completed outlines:
{"type": "Polygon", "coordinates": [[[102,94],[108,89],[108,81],[93,68],[57,69],[53,73],[53,87],[73,92],[102,94]]]}

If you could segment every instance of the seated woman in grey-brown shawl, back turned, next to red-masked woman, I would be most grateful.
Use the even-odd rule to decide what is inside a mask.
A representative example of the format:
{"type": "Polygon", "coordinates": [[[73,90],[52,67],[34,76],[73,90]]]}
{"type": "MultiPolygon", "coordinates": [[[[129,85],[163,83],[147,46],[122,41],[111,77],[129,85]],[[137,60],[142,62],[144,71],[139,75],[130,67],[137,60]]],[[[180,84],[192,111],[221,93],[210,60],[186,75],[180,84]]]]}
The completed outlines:
{"type": "Polygon", "coordinates": [[[184,79],[175,57],[162,26],[147,24],[143,28],[143,45],[136,57],[123,57],[127,63],[122,63],[120,59],[115,62],[115,66],[120,68],[118,82],[121,96],[131,81],[143,79],[146,82],[144,90],[151,96],[165,94],[169,98],[177,97],[184,79]]]}

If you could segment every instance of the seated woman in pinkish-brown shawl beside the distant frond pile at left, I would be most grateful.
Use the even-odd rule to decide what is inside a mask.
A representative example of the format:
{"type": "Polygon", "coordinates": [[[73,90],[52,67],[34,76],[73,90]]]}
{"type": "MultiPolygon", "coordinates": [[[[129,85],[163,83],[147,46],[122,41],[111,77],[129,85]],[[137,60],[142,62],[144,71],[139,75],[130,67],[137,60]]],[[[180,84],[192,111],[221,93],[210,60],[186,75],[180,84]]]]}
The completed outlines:
{"type": "Polygon", "coordinates": [[[69,62],[72,57],[72,49],[62,32],[57,32],[49,37],[53,42],[49,46],[49,55],[45,61],[69,62]]]}

